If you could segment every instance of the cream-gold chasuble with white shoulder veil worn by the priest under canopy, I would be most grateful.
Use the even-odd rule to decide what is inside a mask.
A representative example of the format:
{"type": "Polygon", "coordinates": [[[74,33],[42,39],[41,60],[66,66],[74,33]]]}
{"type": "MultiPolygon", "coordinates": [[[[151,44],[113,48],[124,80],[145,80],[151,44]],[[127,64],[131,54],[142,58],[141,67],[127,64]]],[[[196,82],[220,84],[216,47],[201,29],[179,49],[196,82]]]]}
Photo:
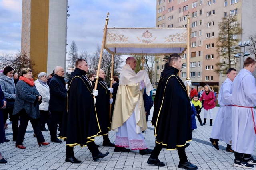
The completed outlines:
{"type": "Polygon", "coordinates": [[[122,126],[133,111],[136,118],[136,131],[147,129],[145,107],[143,102],[144,88],[140,90],[140,82],[145,83],[146,92],[149,95],[153,90],[148,74],[145,70],[140,70],[135,74],[134,70],[125,64],[122,68],[119,86],[116,94],[116,102],[113,111],[111,129],[118,132],[118,127],[122,126]]]}

